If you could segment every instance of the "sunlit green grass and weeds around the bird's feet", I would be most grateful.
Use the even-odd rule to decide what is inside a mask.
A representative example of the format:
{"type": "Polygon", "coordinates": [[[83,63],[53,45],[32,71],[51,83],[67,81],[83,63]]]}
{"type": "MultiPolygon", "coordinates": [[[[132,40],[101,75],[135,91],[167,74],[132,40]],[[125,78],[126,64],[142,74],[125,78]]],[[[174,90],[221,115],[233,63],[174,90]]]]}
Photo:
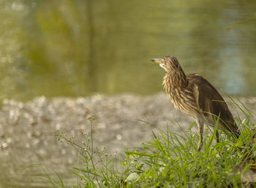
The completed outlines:
{"type": "MultiPolygon", "coordinates": [[[[254,175],[255,124],[253,113],[238,101],[233,103],[245,117],[236,122],[241,136],[235,139],[224,133],[219,143],[215,141],[216,128],[206,129],[203,148],[197,152],[198,133],[192,132],[193,123],[181,133],[152,132],[154,139],[142,145],[140,151],[127,151],[121,170],[116,166],[116,154],[110,155],[93,146],[93,133],[85,133],[85,142],[79,145],[64,133],[58,133],[60,141],[72,145],[83,161],[83,166],[72,168],[78,176],[74,187],[241,187],[244,173],[254,175]],[[253,171],[249,170],[252,169],[253,171]]],[[[91,130],[94,119],[89,118],[91,130]]],[[[173,125],[172,125],[173,126],[173,125]]],[[[195,125],[196,126],[196,125],[195,125]]],[[[65,187],[59,176],[48,176],[53,187],[65,187]]],[[[256,179],[255,179],[256,181],[256,179]]]]}

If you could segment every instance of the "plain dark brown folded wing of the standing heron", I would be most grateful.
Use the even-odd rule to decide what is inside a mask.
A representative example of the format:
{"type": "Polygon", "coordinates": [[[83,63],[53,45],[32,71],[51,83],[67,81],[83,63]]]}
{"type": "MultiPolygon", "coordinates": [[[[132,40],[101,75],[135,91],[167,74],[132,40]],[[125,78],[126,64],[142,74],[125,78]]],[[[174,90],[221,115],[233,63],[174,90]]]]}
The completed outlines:
{"type": "Polygon", "coordinates": [[[225,122],[222,123],[224,129],[231,128],[231,130],[236,131],[237,126],[234,124],[233,115],[214,86],[198,74],[188,74],[187,80],[189,82],[188,87],[194,87],[196,103],[200,111],[205,117],[211,117],[212,120],[209,122],[215,123],[214,120],[220,115],[220,119],[225,122]]]}

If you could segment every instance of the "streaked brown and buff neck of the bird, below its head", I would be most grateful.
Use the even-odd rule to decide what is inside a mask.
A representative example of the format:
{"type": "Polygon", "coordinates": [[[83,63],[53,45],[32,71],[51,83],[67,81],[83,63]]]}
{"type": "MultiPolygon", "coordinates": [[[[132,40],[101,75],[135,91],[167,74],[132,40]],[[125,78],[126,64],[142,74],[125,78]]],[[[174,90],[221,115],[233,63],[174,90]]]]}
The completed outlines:
{"type": "Polygon", "coordinates": [[[165,74],[162,84],[164,85],[166,92],[170,93],[170,89],[187,87],[188,81],[186,74],[184,74],[182,69],[171,70],[167,71],[167,74],[165,74]]]}

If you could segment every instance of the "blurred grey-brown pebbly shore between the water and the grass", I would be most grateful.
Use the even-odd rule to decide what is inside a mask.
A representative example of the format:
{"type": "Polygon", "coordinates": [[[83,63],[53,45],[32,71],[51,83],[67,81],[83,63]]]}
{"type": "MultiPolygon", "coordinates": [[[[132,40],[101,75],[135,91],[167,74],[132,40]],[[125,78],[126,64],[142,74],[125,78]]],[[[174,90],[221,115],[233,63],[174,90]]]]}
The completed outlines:
{"type": "MultiPolygon", "coordinates": [[[[256,111],[256,98],[239,100],[256,111]]],[[[230,108],[234,115],[241,114],[233,105],[230,108]]],[[[0,110],[0,187],[48,186],[47,180],[35,178],[43,173],[40,165],[20,171],[34,164],[53,168],[65,180],[69,176],[65,174],[67,168],[79,165],[78,156],[72,147],[57,141],[55,134],[66,132],[74,135],[76,141],[82,141],[82,133],[90,130],[88,117],[96,117],[95,146],[105,147],[109,153],[117,152],[119,159],[127,147],[150,141],[151,130],[165,130],[168,124],[170,130],[178,131],[172,121],[185,129],[193,122],[191,117],[173,109],[165,93],[39,97],[26,103],[4,100],[0,110]]]]}

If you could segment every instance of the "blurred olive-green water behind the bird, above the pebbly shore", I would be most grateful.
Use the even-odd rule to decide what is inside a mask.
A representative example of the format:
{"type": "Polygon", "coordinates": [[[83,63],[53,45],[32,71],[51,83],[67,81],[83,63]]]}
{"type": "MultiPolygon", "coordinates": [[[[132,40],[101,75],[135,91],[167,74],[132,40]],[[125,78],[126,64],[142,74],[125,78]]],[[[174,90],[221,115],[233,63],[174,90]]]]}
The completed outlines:
{"type": "Polygon", "coordinates": [[[0,99],[157,93],[165,73],[149,60],[169,54],[256,95],[255,14],[252,0],[0,0],[0,99]]]}

